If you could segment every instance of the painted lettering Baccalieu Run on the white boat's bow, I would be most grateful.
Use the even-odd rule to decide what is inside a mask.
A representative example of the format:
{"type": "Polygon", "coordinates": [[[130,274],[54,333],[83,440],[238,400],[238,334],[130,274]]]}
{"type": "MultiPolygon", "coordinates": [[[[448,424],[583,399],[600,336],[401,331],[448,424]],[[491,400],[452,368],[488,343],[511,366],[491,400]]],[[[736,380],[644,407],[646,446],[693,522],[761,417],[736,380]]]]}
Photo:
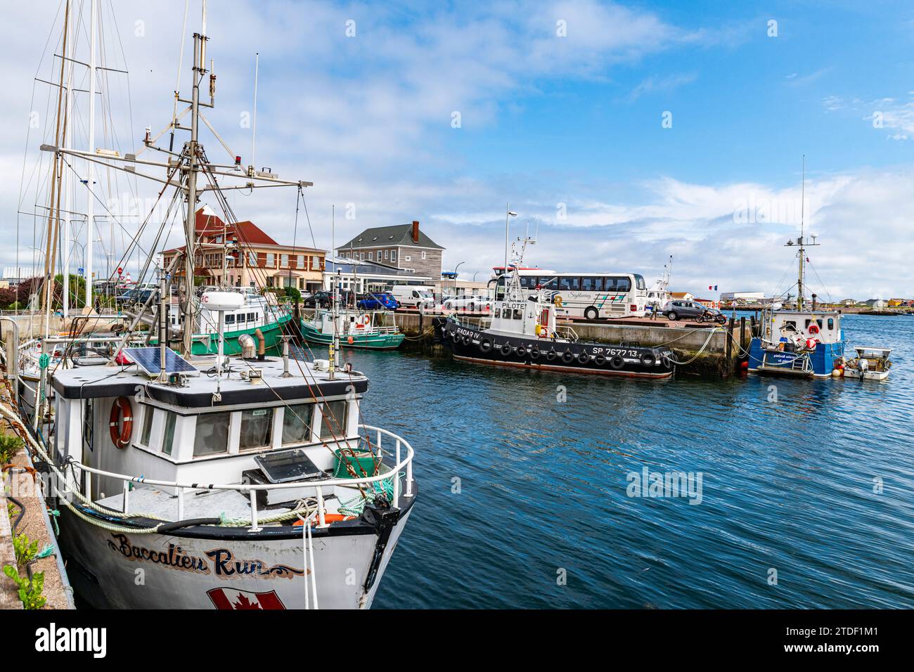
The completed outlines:
{"type": "Polygon", "coordinates": [[[130,539],[123,534],[114,534],[116,540],[108,541],[108,547],[116,550],[127,560],[137,562],[153,562],[165,565],[174,570],[195,571],[200,574],[235,579],[244,576],[257,576],[264,579],[292,579],[303,576],[302,570],[296,570],[288,565],[269,566],[262,560],[235,560],[235,556],[228,549],[207,550],[207,558],[189,555],[180,546],[168,544],[167,550],[146,549],[143,546],[134,546],[130,539]],[[207,560],[208,559],[208,560],[207,560]]]}

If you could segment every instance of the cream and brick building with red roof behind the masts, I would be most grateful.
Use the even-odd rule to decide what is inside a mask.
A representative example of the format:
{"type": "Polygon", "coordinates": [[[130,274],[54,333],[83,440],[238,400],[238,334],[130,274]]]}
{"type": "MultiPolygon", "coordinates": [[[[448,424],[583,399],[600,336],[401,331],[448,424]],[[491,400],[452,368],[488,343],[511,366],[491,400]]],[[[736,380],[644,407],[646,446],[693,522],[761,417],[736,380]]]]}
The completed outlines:
{"type": "MultiPolygon", "coordinates": [[[[196,274],[206,276],[207,283],[229,284],[237,287],[295,287],[299,290],[317,291],[324,282],[326,251],[301,245],[281,245],[250,220],[223,221],[208,206],[197,210],[197,255],[194,260],[196,274]],[[229,243],[228,259],[223,266],[223,255],[229,243]],[[237,246],[231,243],[237,242],[237,246]],[[231,254],[239,250],[236,260],[231,254]],[[223,272],[226,280],[223,282],[223,272]]],[[[184,253],[184,246],[162,252],[165,267],[175,255],[184,253]]],[[[181,261],[175,267],[181,274],[181,261]]]]}

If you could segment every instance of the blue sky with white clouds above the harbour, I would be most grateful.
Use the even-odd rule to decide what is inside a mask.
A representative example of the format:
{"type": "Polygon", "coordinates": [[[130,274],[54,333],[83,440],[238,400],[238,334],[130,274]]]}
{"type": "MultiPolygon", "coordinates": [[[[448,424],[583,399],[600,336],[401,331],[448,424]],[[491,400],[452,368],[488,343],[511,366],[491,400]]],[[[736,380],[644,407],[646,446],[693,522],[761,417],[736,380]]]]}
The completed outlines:
{"type": "MultiPolygon", "coordinates": [[[[136,141],[170,117],[184,3],[102,5],[105,46],[131,71],[129,100],[120,84],[107,93],[112,110],[133,114],[117,117],[119,137],[136,141]]],[[[815,289],[833,298],[914,294],[912,5],[209,6],[218,97],[208,116],[247,162],[250,127],[239,118],[252,108],[259,51],[257,163],[314,181],[308,207],[323,247],[335,204],[354,214],[337,218],[338,241],[419,219],[448,249],[446,267],[463,261],[462,273],[484,273],[501,262],[510,201],[514,232],[540,221],[531,263],[653,280],[673,254],[674,289],[773,293],[792,264],[781,244],[799,227],[791,213],[805,154],[807,222],[823,243],[813,253],[815,289]],[[662,127],[664,112],[672,128],[662,127]],[[756,205],[749,217],[747,204],[756,205]]],[[[32,78],[59,20],[56,2],[10,13],[0,28],[15,92],[0,131],[7,213],[23,200],[32,78]]],[[[188,23],[188,33],[199,27],[198,0],[188,23]]],[[[38,93],[46,105],[47,92],[38,93]]],[[[39,132],[47,136],[48,124],[30,144],[39,132]]],[[[210,155],[222,151],[204,142],[210,155]]],[[[294,194],[231,200],[239,216],[291,241],[294,194]]]]}

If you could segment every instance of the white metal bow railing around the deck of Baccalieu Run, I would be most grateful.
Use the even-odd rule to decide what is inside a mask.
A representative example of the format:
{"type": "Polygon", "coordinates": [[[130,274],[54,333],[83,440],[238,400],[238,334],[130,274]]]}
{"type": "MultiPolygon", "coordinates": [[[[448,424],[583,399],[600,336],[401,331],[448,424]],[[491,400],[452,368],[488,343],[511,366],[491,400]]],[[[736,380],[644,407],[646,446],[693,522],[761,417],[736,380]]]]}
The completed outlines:
{"type": "MultiPolygon", "coordinates": [[[[96,469],[94,467],[87,466],[86,464],[81,464],[80,462],[71,462],[70,464],[80,469],[81,472],[86,474],[86,484],[85,484],[85,495],[91,498],[91,476],[92,474],[97,476],[104,476],[107,478],[113,478],[123,483],[123,507],[122,513],[129,513],[129,495],[130,495],[130,484],[131,483],[143,483],[145,485],[158,485],[161,487],[171,487],[175,488],[177,491],[177,517],[175,521],[182,520],[184,518],[184,494],[186,490],[191,490],[195,492],[199,491],[219,491],[219,490],[236,490],[241,493],[246,493],[250,495],[250,517],[251,517],[251,529],[258,528],[258,516],[257,516],[257,493],[260,490],[288,490],[288,489],[301,489],[302,487],[314,487],[316,491],[317,499],[317,518],[318,518],[318,527],[325,528],[327,523],[324,520],[324,488],[333,487],[335,485],[367,485],[370,483],[377,483],[378,481],[386,481],[392,479],[393,481],[393,501],[391,502],[393,506],[399,507],[400,500],[400,484],[399,484],[399,475],[400,471],[406,469],[406,492],[402,494],[404,497],[413,496],[412,493],[412,458],[414,451],[412,446],[397,434],[393,432],[388,432],[385,429],[380,427],[374,427],[372,425],[362,424],[359,425],[360,430],[364,430],[367,433],[375,433],[375,443],[372,445],[372,448],[375,449],[381,457],[384,456],[385,448],[381,445],[381,438],[386,436],[388,437],[388,443],[394,443],[393,451],[388,451],[388,455],[393,455],[396,459],[396,464],[390,467],[390,471],[384,474],[377,474],[373,476],[363,476],[359,478],[325,478],[321,480],[309,480],[309,481],[294,481],[290,483],[270,483],[270,484],[238,484],[238,483],[227,483],[227,484],[210,484],[202,485],[200,483],[185,483],[180,481],[163,481],[154,478],[145,478],[143,476],[131,476],[125,474],[116,474],[113,472],[108,472],[103,469],[96,469]],[[403,456],[403,451],[406,451],[406,456],[403,456]]],[[[366,437],[367,438],[367,437],[366,437]]],[[[341,443],[341,442],[336,442],[341,443]]]]}

